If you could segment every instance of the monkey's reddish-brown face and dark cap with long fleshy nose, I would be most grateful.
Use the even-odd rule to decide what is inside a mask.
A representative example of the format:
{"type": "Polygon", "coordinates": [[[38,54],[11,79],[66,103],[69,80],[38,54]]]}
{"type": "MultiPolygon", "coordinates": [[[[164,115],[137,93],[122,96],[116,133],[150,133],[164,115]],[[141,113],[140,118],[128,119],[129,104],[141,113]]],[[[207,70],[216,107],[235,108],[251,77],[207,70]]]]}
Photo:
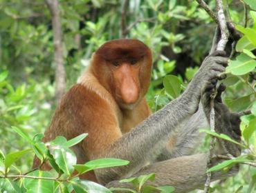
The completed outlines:
{"type": "Polygon", "coordinates": [[[95,56],[100,59],[94,70],[100,72],[100,83],[120,108],[134,108],[149,87],[152,54],[147,45],[135,39],[118,39],[104,43],[95,56]]]}

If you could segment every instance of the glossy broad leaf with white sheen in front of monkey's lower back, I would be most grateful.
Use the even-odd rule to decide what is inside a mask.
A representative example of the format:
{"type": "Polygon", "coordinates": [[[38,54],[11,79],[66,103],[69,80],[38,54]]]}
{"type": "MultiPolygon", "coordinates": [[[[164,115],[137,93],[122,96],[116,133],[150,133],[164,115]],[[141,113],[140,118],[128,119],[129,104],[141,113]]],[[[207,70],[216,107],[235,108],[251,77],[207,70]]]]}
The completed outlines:
{"type": "Polygon", "coordinates": [[[55,163],[60,167],[62,172],[70,176],[74,170],[73,165],[77,161],[74,152],[60,145],[51,145],[49,150],[53,159],[55,159],[55,163]]]}

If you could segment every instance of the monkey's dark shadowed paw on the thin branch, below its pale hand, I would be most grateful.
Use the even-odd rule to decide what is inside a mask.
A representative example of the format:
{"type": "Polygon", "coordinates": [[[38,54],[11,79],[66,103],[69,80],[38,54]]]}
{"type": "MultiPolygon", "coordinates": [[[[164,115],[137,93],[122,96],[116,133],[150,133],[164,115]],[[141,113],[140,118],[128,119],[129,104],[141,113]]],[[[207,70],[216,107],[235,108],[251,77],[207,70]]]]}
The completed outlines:
{"type": "MultiPolygon", "coordinates": [[[[239,129],[240,125],[240,116],[244,115],[244,113],[233,113],[230,112],[228,107],[222,103],[221,100],[221,93],[226,89],[226,86],[221,84],[219,88],[215,90],[215,86],[217,83],[217,79],[212,79],[205,85],[202,90],[201,102],[203,104],[203,110],[205,112],[205,116],[210,122],[210,101],[212,94],[217,92],[217,95],[214,98],[214,129],[219,134],[226,134],[230,136],[230,138],[234,139],[235,141],[239,142],[241,139],[241,131],[239,129]]],[[[232,154],[232,156],[239,156],[241,153],[241,149],[239,145],[235,143],[231,143],[225,140],[218,139],[219,148],[217,150],[217,154],[232,154]]]]}

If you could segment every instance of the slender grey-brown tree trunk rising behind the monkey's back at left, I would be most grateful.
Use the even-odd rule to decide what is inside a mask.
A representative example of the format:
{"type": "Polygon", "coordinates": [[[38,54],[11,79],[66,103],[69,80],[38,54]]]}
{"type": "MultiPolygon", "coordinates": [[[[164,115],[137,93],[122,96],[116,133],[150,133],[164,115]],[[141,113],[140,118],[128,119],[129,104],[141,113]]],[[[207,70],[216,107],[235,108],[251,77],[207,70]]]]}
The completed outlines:
{"type": "Polygon", "coordinates": [[[55,99],[59,103],[66,89],[66,72],[62,47],[62,27],[60,19],[59,2],[57,0],[45,0],[51,12],[53,24],[53,45],[55,63],[55,99]]]}

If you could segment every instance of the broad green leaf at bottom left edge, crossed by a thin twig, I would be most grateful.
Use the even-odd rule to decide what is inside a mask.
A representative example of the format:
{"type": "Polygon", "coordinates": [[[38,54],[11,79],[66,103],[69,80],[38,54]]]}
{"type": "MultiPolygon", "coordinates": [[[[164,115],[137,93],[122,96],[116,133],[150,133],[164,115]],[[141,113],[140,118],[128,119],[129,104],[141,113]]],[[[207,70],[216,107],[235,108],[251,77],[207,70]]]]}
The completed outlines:
{"type": "MultiPolygon", "coordinates": [[[[53,176],[51,172],[41,170],[31,172],[30,174],[28,174],[28,176],[55,178],[55,176],[53,176]]],[[[26,192],[52,193],[55,192],[56,186],[57,184],[54,180],[24,178],[24,187],[27,190],[26,192]]]]}

